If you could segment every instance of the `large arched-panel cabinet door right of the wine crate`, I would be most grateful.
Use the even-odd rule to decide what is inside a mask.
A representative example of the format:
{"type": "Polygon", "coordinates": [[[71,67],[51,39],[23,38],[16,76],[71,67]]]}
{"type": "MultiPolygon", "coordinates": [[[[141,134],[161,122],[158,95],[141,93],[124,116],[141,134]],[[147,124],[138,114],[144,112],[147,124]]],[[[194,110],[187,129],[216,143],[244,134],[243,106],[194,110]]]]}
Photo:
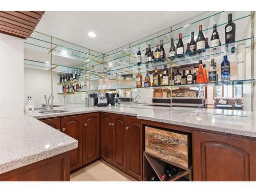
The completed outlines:
{"type": "Polygon", "coordinates": [[[194,181],[255,181],[256,141],[193,132],[194,181]]]}

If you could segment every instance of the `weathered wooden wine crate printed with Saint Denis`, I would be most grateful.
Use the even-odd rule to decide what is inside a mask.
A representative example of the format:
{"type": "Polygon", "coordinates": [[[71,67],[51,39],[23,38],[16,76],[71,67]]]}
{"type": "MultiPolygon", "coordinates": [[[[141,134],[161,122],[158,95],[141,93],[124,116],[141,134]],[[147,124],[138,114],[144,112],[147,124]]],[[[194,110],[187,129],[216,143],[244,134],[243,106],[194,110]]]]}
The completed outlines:
{"type": "Polygon", "coordinates": [[[191,137],[145,126],[145,152],[181,167],[191,165],[191,137]]]}

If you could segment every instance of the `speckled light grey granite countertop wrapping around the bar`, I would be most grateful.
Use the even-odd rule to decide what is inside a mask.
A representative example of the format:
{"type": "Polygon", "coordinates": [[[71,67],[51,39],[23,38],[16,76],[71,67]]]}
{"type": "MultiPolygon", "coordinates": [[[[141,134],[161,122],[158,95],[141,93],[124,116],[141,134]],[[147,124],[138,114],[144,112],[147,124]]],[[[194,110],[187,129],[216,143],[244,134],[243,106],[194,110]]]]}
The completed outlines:
{"type": "Polygon", "coordinates": [[[184,108],[173,108],[141,105],[85,107],[82,104],[67,104],[55,109],[68,112],[58,114],[32,114],[0,117],[0,174],[46,159],[76,148],[75,139],[55,130],[37,119],[76,115],[93,112],[109,112],[137,116],[139,119],[158,121],[170,124],[195,127],[198,129],[231,133],[256,138],[256,124],[253,118],[214,115],[202,113],[200,109],[186,112],[184,108]]]}

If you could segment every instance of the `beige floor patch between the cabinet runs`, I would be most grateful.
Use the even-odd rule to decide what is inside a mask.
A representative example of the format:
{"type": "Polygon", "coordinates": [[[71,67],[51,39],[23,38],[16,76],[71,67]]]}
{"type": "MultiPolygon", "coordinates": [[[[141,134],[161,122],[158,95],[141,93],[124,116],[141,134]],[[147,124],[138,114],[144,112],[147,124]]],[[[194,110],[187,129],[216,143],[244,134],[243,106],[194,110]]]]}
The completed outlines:
{"type": "Polygon", "coordinates": [[[113,165],[99,160],[70,175],[70,181],[136,181],[113,165]]]}

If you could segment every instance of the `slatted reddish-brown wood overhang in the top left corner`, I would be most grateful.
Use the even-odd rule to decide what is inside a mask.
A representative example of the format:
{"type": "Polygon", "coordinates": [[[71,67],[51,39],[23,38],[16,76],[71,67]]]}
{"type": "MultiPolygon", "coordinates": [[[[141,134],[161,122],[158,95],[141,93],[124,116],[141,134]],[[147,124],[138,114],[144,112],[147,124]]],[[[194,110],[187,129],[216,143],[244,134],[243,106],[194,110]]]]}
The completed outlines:
{"type": "Polygon", "coordinates": [[[28,38],[45,11],[0,11],[0,33],[28,38]]]}

